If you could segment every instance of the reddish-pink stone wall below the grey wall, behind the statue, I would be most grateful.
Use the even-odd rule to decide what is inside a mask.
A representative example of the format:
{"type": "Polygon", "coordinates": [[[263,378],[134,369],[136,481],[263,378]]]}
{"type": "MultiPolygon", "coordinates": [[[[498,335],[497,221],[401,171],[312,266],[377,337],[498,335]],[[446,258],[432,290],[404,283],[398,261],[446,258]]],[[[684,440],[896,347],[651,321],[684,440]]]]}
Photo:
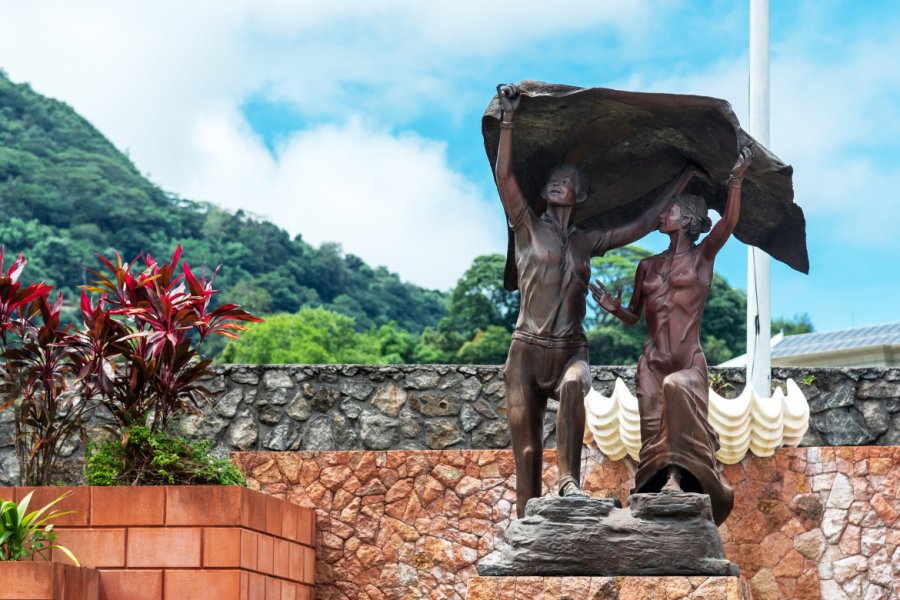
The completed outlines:
{"type": "MultiPolygon", "coordinates": [[[[544,482],[556,479],[545,452],[544,482]]],[[[458,598],[514,513],[508,450],[272,452],[251,485],[315,508],[316,598],[458,598]]],[[[587,453],[585,489],[628,495],[634,465],[587,453]]],[[[768,598],[896,598],[900,447],[781,449],[725,467],[727,557],[768,598]],[[893,569],[893,570],[892,570],[893,569]]]]}

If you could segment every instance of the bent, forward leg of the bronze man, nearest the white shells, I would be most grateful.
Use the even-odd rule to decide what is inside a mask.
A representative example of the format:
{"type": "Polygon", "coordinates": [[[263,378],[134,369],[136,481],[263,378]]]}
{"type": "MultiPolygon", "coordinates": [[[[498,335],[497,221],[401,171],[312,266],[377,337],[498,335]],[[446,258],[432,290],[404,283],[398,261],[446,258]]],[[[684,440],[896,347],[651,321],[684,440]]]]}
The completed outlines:
{"type": "Polygon", "coordinates": [[[574,481],[581,488],[581,447],[584,438],[584,398],[591,389],[587,362],[576,358],[566,365],[556,390],[559,412],[556,414],[557,467],[560,493],[574,481]]]}

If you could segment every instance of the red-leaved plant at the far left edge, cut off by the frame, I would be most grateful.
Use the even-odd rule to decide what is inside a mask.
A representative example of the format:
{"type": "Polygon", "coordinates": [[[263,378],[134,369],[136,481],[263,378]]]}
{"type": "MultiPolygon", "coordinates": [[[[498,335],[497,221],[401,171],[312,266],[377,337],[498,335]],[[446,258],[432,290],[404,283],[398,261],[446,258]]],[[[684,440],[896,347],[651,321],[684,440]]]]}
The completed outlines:
{"type": "Polygon", "coordinates": [[[60,325],[62,294],[51,286],[23,286],[19,255],[3,273],[0,248],[0,410],[13,407],[19,473],[28,485],[49,483],[65,442],[82,431],[90,394],[78,374],[84,357],[60,325]]]}

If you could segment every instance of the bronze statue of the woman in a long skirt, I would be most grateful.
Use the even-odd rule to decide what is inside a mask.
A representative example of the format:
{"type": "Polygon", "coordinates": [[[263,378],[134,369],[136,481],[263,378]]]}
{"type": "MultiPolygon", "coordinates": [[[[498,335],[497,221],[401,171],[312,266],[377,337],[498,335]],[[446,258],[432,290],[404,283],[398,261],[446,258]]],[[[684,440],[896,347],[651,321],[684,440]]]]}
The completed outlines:
{"type": "Polygon", "coordinates": [[[741,210],[741,184],[752,160],[746,146],[731,172],[722,218],[710,230],[706,201],[676,196],[659,218],[669,249],[645,258],[635,274],[627,308],[599,281],[591,294],[600,306],[634,325],[646,310],[647,342],[637,368],[641,454],[633,493],[687,491],[709,494],[716,524],[731,512],[734,496],[716,471],[718,437],[707,420],[706,358],[700,322],[716,254],[731,236],[741,210]]]}

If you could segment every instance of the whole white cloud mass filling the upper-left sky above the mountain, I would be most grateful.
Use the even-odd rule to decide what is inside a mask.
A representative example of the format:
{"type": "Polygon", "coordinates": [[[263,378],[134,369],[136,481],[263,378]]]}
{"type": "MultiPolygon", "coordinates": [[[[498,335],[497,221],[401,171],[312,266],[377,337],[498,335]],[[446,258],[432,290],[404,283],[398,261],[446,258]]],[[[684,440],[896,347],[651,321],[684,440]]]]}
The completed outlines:
{"type": "Polygon", "coordinates": [[[640,37],[651,4],[16,3],[0,19],[0,56],[164,188],[448,288],[472,257],[504,249],[502,213],[443,146],[381,127],[425,112],[458,119],[472,92],[448,88],[454,76],[529,40],[597,26],[640,37]],[[295,134],[273,158],[239,115],[261,90],[343,125],[295,134]]]}

